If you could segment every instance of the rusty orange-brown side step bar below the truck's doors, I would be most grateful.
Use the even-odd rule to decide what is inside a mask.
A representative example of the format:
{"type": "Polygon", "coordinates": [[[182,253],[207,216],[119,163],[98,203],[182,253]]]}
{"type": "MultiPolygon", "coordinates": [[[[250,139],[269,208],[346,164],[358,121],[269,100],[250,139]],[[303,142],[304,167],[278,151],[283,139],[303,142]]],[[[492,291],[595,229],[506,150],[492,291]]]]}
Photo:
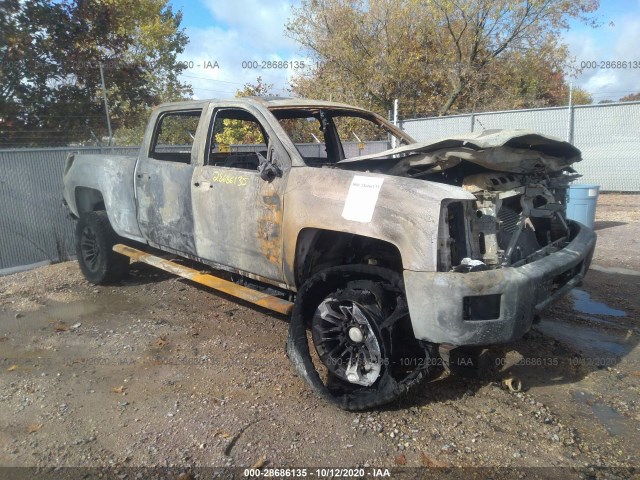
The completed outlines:
{"type": "Polygon", "coordinates": [[[113,251],[131,258],[134,262],[148,263],[149,265],[160,268],[161,270],[165,270],[169,273],[173,273],[174,275],[179,275],[187,280],[191,280],[192,282],[200,283],[226,293],[227,295],[241,298],[249,303],[259,305],[263,308],[268,308],[269,310],[273,310],[284,315],[289,315],[291,310],[293,310],[293,303],[287,300],[267,295],[266,293],[261,293],[241,285],[236,285],[233,282],[215,277],[208,273],[200,273],[193,268],[179,265],[170,260],[156,257],[150,253],[146,253],[120,243],[113,246],[113,251]]]}

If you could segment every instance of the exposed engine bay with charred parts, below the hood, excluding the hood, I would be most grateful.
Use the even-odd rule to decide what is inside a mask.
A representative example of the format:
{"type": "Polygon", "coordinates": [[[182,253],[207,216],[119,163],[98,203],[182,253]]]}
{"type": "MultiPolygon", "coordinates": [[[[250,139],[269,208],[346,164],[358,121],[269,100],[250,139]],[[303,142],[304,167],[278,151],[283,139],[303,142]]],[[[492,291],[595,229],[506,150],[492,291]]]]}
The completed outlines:
{"type": "Polygon", "coordinates": [[[577,175],[487,172],[463,178],[475,202],[450,202],[441,216],[438,269],[479,271],[519,266],[562,249],[567,183],[577,175]]]}

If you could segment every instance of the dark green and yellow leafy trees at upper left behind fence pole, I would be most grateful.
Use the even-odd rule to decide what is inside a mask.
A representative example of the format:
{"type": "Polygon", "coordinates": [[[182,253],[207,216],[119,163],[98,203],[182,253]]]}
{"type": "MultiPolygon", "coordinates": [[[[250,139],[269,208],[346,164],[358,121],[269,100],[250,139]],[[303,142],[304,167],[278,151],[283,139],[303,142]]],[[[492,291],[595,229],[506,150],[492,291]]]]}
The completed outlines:
{"type": "Polygon", "coordinates": [[[0,18],[5,145],[105,136],[100,63],[116,135],[141,137],[149,107],[191,92],[176,60],[188,39],[168,0],[8,0],[0,18]]]}

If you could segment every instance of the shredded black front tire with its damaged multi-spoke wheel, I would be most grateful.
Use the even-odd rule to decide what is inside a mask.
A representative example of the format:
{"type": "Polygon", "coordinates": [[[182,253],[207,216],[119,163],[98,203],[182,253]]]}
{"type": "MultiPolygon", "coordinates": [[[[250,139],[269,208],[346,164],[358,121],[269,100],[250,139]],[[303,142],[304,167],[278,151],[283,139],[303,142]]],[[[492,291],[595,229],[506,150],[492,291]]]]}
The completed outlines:
{"type": "Polygon", "coordinates": [[[298,291],[287,354],[321,397],[364,410],[424,379],[432,349],[413,336],[398,273],[347,265],[321,271],[298,291]]]}

